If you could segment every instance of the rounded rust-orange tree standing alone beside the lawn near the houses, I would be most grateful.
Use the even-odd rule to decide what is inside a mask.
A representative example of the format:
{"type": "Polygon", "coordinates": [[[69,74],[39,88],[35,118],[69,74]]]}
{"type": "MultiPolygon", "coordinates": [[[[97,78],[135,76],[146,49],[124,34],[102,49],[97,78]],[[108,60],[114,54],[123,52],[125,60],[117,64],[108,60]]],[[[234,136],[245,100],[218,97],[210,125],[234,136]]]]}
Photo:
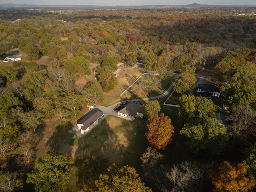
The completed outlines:
{"type": "Polygon", "coordinates": [[[164,150],[172,141],[174,133],[174,127],[171,124],[170,118],[163,113],[159,116],[151,113],[147,126],[148,133],[146,138],[149,145],[154,149],[164,150]]]}

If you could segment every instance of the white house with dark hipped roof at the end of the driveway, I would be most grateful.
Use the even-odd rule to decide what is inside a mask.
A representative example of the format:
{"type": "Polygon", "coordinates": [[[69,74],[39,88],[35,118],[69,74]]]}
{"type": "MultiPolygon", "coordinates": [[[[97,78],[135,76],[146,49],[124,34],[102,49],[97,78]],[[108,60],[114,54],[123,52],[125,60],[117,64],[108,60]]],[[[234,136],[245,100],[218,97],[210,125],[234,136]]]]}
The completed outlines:
{"type": "Polygon", "coordinates": [[[128,116],[143,118],[143,106],[136,102],[129,102],[118,111],[118,116],[127,118],[128,116]]]}

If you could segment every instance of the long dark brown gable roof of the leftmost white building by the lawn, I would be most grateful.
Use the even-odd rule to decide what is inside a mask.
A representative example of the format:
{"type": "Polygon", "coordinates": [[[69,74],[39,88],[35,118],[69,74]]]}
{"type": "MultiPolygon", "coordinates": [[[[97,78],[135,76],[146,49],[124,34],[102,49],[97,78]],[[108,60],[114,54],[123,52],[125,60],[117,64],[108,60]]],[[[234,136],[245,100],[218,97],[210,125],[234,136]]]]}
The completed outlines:
{"type": "Polygon", "coordinates": [[[96,120],[98,120],[104,114],[101,111],[93,110],[85,114],[82,118],[80,118],[77,123],[83,124],[82,130],[86,130],[91,124],[93,124],[96,120]]]}

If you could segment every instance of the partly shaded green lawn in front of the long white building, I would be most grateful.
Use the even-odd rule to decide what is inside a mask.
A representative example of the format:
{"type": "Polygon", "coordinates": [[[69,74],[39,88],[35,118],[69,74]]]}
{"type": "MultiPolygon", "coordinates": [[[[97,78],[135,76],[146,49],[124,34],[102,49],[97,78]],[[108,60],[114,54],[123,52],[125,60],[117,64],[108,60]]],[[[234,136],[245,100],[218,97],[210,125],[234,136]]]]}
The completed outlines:
{"type": "Polygon", "coordinates": [[[146,131],[145,119],[131,122],[107,116],[84,138],[68,132],[55,134],[50,139],[52,148],[75,157],[66,191],[79,191],[84,183],[98,178],[113,163],[140,168],[140,156],[148,147],[146,131]]]}

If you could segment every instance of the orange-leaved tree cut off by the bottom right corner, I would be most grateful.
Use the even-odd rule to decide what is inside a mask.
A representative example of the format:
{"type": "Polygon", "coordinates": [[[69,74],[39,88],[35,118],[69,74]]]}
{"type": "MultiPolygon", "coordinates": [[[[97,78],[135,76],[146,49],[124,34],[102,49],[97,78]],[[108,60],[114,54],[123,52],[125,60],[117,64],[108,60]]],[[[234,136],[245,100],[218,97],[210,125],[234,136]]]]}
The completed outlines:
{"type": "Polygon", "coordinates": [[[242,163],[232,166],[230,162],[224,161],[220,164],[218,171],[210,175],[214,191],[253,191],[255,179],[248,176],[247,170],[242,163]]]}

